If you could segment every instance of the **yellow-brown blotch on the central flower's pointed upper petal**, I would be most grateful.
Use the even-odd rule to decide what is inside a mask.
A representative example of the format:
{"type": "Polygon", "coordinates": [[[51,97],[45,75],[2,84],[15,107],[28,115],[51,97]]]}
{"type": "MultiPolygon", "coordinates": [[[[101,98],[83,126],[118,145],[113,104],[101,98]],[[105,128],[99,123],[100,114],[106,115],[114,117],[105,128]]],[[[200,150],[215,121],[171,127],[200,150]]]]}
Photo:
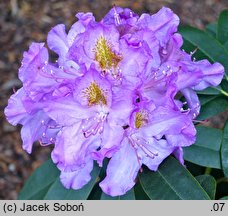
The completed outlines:
{"type": "Polygon", "coordinates": [[[96,82],[92,82],[89,87],[82,91],[88,100],[88,105],[103,104],[107,105],[105,92],[96,82]]]}

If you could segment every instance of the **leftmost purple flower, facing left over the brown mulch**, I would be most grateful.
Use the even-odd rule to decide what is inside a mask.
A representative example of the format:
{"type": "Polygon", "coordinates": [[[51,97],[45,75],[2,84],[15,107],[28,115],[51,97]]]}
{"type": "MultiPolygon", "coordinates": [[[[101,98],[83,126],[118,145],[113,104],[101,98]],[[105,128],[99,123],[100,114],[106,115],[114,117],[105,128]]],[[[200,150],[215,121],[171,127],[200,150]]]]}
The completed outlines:
{"type": "Polygon", "coordinates": [[[7,120],[12,125],[23,125],[22,147],[28,153],[32,152],[35,141],[42,145],[53,144],[59,131],[58,125],[43,112],[42,107],[42,103],[32,101],[22,87],[10,97],[5,109],[7,120]]]}

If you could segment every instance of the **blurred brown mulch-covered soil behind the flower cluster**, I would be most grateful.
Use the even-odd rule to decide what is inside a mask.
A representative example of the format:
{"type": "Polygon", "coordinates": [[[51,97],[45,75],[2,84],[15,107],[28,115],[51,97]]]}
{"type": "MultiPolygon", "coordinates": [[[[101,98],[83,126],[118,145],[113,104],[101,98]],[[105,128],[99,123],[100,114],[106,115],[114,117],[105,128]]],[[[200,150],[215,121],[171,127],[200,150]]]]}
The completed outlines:
{"type": "MultiPolygon", "coordinates": [[[[68,29],[75,22],[76,13],[91,11],[100,20],[114,4],[138,14],[152,14],[167,6],[180,16],[182,24],[201,29],[215,22],[228,7],[227,0],[0,1],[0,199],[17,199],[26,179],[49,157],[52,148],[36,143],[33,153],[27,154],[21,148],[20,126],[11,126],[4,116],[13,89],[21,87],[17,73],[23,51],[28,50],[32,41],[45,41],[48,31],[58,23],[64,23],[68,29]]],[[[223,115],[213,120],[216,127],[222,127],[223,115]]]]}

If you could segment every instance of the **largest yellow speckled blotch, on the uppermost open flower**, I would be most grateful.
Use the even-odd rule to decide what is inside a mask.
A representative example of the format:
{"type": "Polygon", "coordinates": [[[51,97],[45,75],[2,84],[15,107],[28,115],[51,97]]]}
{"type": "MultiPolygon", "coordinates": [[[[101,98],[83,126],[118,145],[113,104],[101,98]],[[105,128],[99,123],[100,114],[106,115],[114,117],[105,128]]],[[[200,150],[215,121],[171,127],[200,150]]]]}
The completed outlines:
{"type": "Polygon", "coordinates": [[[117,67],[118,63],[122,60],[120,55],[112,51],[112,45],[101,36],[95,45],[95,60],[103,70],[109,70],[112,67],[117,67]]]}

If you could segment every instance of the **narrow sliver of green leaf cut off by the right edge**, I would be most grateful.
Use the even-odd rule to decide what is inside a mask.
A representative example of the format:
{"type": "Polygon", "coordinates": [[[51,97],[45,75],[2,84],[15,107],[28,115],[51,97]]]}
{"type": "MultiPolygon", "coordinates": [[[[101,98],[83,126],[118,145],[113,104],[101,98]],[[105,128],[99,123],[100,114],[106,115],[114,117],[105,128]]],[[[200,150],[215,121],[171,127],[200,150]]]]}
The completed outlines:
{"type": "Polygon", "coordinates": [[[223,139],[221,147],[221,160],[224,175],[228,177],[228,120],[223,130],[223,139]]]}

